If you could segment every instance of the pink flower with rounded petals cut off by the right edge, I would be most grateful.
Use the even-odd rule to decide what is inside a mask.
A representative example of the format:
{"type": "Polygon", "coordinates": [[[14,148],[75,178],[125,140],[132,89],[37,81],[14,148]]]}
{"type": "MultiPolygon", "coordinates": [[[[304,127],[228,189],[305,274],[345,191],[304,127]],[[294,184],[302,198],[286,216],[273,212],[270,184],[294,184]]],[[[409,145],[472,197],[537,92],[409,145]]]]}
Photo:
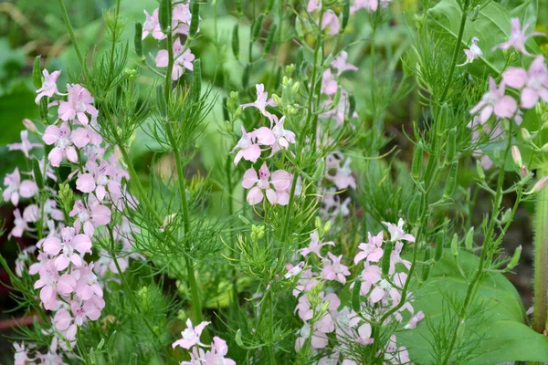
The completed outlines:
{"type": "Polygon", "coordinates": [[[548,102],[548,68],[544,57],[536,57],[526,72],[523,68],[508,68],[502,81],[514,89],[522,89],[522,107],[531,109],[539,99],[548,102]]]}

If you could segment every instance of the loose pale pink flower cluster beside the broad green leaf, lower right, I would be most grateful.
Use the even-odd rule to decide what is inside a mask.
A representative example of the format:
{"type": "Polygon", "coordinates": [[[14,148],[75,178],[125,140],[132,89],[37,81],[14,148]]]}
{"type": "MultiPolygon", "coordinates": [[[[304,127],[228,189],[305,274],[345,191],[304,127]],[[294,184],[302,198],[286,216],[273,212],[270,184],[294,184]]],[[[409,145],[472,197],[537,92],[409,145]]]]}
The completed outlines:
{"type": "MultiPolygon", "coordinates": [[[[406,316],[408,323],[404,328],[408,329],[416,328],[416,323],[424,318],[422,312],[414,313],[410,293],[407,292],[406,302],[401,304],[402,287],[407,280],[406,270],[409,269],[410,262],[400,254],[404,242],[413,243],[415,237],[404,232],[404,222],[401,219],[398,224],[384,224],[390,239],[385,240],[385,233],[381,231],[378,235],[369,234],[368,242],[358,246],[359,252],[354,256],[353,263],[363,269],[354,279],[351,279],[349,267],[342,264],[342,255],[333,255],[332,252],[321,255],[322,247],[334,246],[334,243],[321,243],[318,232],[313,232],[310,245],[299,251],[309,261],[315,261],[309,257],[311,254],[320,260],[321,270],[302,270],[293,290],[293,295],[299,298],[295,311],[304,322],[295,348],[299,350],[309,342],[310,349],[323,356],[319,363],[359,363],[343,357],[350,356],[353,346],[370,346],[374,340],[380,340],[372,338],[371,323],[378,323],[382,319],[383,325],[393,320],[402,322],[406,316]],[[394,245],[394,249],[387,253],[390,255],[389,260],[383,260],[388,241],[394,245]],[[381,261],[387,262],[387,270],[380,266],[381,261]],[[384,271],[386,274],[383,274],[384,271]],[[338,287],[349,283],[352,283],[348,286],[351,289],[354,285],[360,285],[360,313],[344,306],[340,294],[337,294],[340,293],[338,287]]],[[[377,349],[374,356],[383,356],[386,363],[409,362],[407,350],[396,346],[395,335],[384,344],[384,349],[377,349]]]]}

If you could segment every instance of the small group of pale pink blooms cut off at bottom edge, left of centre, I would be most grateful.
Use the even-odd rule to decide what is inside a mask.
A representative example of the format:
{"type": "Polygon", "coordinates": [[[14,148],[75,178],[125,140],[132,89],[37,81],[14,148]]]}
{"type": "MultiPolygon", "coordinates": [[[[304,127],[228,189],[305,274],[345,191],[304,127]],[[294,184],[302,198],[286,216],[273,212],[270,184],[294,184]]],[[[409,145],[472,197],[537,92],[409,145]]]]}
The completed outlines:
{"type": "Polygon", "coordinates": [[[211,345],[205,345],[200,341],[200,336],[209,323],[202,322],[193,327],[190,318],[186,320],[186,328],[181,332],[182,339],[177,339],[172,344],[174,349],[181,347],[189,350],[190,361],[182,361],[181,365],[236,365],[236,361],[225,358],[228,347],[224,339],[214,337],[211,345]]]}

